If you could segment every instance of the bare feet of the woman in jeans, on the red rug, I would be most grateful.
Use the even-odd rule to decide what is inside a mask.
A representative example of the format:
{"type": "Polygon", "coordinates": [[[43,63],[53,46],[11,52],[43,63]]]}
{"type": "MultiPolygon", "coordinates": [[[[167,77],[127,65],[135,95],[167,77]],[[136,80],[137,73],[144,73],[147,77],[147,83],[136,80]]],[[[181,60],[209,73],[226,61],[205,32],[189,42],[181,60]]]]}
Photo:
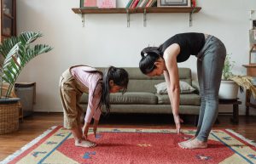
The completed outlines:
{"type": "Polygon", "coordinates": [[[181,143],[178,143],[178,145],[179,145],[179,147],[181,147],[183,149],[187,149],[187,150],[207,148],[207,142],[203,142],[198,139],[181,142],[181,143]]]}

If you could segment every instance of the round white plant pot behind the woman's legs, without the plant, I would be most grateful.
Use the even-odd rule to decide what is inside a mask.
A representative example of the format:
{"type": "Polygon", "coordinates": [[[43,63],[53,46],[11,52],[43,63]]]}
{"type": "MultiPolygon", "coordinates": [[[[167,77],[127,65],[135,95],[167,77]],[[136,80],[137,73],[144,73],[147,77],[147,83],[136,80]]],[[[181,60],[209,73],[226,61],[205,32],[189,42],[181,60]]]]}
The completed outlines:
{"type": "Polygon", "coordinates": [[[239,86],[236,82],[222,80],[218,91],[218,99],[236,99],[239,86]]]}

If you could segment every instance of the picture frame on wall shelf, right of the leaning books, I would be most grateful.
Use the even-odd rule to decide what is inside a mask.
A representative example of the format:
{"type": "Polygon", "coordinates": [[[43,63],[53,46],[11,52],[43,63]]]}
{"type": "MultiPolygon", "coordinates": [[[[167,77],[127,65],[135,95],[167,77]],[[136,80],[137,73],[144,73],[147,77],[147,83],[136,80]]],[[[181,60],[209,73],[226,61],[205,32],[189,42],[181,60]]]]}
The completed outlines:
{"type": "Polygon", "coordinates": [[[191,0],[157,0],[157,7],[191,7],[191,0]]]}

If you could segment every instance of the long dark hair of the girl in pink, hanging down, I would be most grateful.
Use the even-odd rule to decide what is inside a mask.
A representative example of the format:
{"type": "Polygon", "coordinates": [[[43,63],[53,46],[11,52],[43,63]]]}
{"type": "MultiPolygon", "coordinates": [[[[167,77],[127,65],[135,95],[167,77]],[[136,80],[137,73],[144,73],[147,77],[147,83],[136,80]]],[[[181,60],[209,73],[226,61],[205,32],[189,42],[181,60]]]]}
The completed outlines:
{"type": "Polygon", "coordinates": [[[110,66],[107,71],[105,71],[102,79],[102,97],[98,104],[98,107],[102,109],[101,107],[104,105],[106,107],[107,114],[110,111],[110,103],[109,103],[109,92],[110,92],[110,86],[109,82],[113,80],[113,83],[115,85],[118,85],[119,87],[123,88],[123,93],[125,93],[128,82],[129,82],[129,76],[127,71],[123,68],[116,68],[114,66],[110,66]]]}

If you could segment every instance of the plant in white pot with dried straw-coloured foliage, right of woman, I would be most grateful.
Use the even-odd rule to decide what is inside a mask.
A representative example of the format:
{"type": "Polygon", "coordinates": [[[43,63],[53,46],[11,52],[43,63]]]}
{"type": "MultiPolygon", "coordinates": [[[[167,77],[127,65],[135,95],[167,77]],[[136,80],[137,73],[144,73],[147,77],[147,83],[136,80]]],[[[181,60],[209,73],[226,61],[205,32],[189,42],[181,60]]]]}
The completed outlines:
{"type": "Polygon", "coordinates": [[[238,88],[243,92],[244,89],[250,89],[256,99],[256,88],[253,86],[253,77],[234,75],[232,69],[235,65],[234,61],[230,60],[230,54],[226,55],[222,80],[218,92],[219,99],[236,99],[238,88]]]}

